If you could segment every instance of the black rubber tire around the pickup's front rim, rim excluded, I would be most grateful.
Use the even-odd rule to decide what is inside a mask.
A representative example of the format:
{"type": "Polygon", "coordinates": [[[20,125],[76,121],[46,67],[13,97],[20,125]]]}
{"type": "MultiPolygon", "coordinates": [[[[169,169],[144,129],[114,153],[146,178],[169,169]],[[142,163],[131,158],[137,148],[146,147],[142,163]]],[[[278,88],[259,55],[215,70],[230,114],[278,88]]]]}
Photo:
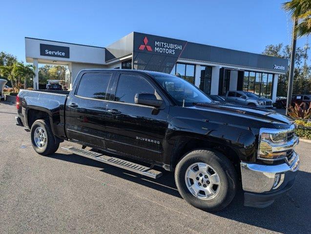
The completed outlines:
{"type": "Polygon", "coordinates": [[[201,210],[216,212],[230,204],[236,193],[237,174],[232,163],[223,154],[211,150],[195,150],[184,156],[177,164],[175,182],[180,195],[192,206],[201,210]],[[220,179],[218,193],[207,200],[192,195],[186,185],[186,171],[190,165],[203,162],[214,168],[220,179]]]}

